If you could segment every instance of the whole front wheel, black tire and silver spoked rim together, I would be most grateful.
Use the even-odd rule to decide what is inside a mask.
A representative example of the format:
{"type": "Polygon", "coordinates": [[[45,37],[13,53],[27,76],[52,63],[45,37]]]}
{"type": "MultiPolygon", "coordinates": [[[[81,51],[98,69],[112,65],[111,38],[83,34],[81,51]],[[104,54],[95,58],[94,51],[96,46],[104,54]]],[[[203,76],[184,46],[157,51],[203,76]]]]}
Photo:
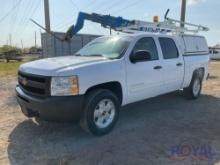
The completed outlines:
{"type": "Polygon", "coordinates": [[[115,126],[120,104],[109,90],[98,89],[87,95],[81,126],[96,136],[105,135],[115,126]]]}

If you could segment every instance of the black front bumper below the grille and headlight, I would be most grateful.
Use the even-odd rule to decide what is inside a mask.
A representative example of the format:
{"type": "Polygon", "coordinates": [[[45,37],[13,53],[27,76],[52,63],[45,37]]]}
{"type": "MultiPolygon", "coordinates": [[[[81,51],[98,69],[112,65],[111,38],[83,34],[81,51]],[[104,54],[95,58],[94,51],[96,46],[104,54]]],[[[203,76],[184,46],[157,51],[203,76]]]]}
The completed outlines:
{"type": "Polygon", "coordinates": [[[59,96],[39,98],[27,95],[16,86],[17,101],[27,117],[39,117],[46,121],[78,121],[82,114],[81,96],[59,96]]]}

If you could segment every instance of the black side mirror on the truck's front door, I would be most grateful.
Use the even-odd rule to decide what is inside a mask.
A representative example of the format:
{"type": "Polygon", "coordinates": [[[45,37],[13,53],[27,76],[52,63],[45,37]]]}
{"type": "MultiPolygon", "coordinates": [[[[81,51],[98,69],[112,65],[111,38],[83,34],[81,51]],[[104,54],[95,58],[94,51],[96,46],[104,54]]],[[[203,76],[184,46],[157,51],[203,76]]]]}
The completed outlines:
{"type": "Polygon", "coordinates": [[[151,60],[151,54],[148,51],[140,50],[135,52],[130,56],[130,60],[132,63],[142,62],[142,61],[149,61],[151,60]]]}

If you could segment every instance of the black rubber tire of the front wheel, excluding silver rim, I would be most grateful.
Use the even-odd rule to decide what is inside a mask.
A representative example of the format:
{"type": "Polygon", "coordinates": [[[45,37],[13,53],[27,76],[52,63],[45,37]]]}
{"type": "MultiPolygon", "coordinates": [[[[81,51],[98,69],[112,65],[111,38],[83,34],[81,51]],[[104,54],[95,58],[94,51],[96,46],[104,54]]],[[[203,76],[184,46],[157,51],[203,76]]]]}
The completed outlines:
{"type": "MultiPolygon", "coordinates": [[[[85,106],[84,106],[84,113],[80,120],[81,127],[96,136],[102,136],[109,133],[115,126],[118,117],[119,117],[119,109],[120,103],[117,96],[106,89],[96,89],[89,92],[86,96],[85,106]],[[110,100],[111,103],[114,104],[114,118],[112,119],[111,123],[105,128],[99,128],[95,122],[95,110],[98,104],[103,100],[110,100]]],[[[105,112],[106,113],[106,112],[105,112]]],[[[111,113],[111,112],[110,112],[111,113]]],[[[107,119],[109,120],[109,119],[107,119]]]]}

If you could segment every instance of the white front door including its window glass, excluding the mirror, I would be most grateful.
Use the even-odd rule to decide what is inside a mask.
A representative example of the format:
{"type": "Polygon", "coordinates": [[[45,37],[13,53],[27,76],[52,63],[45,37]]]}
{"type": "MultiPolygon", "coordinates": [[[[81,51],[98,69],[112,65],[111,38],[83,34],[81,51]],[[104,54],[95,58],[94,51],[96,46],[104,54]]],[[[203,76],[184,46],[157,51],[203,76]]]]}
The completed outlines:
{"type": "MultiPolygon", "coordinates": [[[[150,60],[132,63],[130,57],[126,61],[128,103],[154,97],[161,94],[163,87],[163,66],[157,49],[158,42],[152,37],[137,40],[132,54],[137,51],[148,51],[150,60]]],[[[131,54],[131,55],[132,55],[131,54]]]]}

